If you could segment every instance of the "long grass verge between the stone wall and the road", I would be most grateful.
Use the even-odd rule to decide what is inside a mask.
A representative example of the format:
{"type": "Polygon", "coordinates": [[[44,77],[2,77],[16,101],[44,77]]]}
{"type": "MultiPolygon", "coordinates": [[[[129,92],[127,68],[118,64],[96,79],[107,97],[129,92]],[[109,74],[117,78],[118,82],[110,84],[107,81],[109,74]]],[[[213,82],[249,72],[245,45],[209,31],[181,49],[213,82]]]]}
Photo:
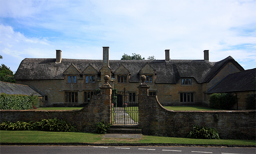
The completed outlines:
{"type": "Polygon", "coordinates": [[[102,138],[104,134],[44,131],[0,131],[2,143],[171,143],[171,144],[221,144],[256,145],[255,140],[203,140],[146,136],[142,138],[102,138]]]}

